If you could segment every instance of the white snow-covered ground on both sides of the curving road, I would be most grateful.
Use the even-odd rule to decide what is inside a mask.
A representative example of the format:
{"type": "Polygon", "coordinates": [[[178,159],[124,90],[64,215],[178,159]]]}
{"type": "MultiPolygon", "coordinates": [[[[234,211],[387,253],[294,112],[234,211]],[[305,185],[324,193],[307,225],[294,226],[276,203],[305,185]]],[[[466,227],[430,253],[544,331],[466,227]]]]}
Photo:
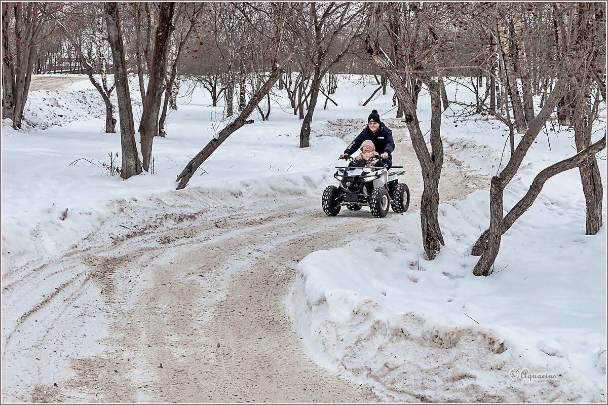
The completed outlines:
{"type": "MultiPolygon", "coordinates": [[[[361,106],[375,88],[373,78],[340,78],[332,96],[339,106],[328,103],[323,111],[324,99],[319,102],[306,149],[298,147],[300,121],[277,90],[271,120],[261,122],[254,114],[256,122],[232,134],[186,192],[215,199],[254,195],[246,204],[260,207],[272,204],[269,195],[320,196],[333,180],[345,140],[361,130],[370,110],[378,109],[387,121],[394,116],[391,92],[361,106]]],[[[139,91],[131,90],[137,119],[139,91]]],[[[2,299],[9,302],[2,306],[9,319],[2,326],[3,358],[7,330],[29,305],[16,299],[19,291],[5,294],[20,277],[12,269],[66,252],[134,201],[151,195],[173,201],[179,193],[173,191],[179,172],[222,125],[223,106],[211,107],[200,89],[187,90],[182,85],[182,94],[189,95],[170,112],[168,137],[154,140],[154,174],[128,181],[108,176],[103,165],[110,163],[109,154],[120,153],[120,136],[103,132],[103,103],[86,80],[60,91],[30,92],[26,119],[33,127],[14,131],[3,123],[2,299]]],[[[426,94],[419,111],[425,133],[426,94]]],[[[444,119],[442,126],[446,165],[489,184],[508,158],[502,126],[481,117],[466,123],[444,119]]],[[[507,208],[538,171],[572,154],[572,134],[547,128],[506,190],[507,208]]],[[[601,156],[605,207],[606,153],[601,156]]],[[[605,209],[603,214],[606,224],[605,209]]],[[[472,275],[477,258],[469,254],[488,226],[487,189],[441,204],[446,246],[434,261],[424,258],[419,212],[387,218],[381,225],[370,219],[367,229],[356,228],[357,240],[312,252],[297,266],[286,304],[317,362],[372,384],[384,400],[606,401],[606,226],[598,235],[584,234],[577,170],[545,184],[503,237],[490,277],[472,275]]],[[[4,372],[12,366],[2,364],[3,385],[19,379],[4,372]]]]}

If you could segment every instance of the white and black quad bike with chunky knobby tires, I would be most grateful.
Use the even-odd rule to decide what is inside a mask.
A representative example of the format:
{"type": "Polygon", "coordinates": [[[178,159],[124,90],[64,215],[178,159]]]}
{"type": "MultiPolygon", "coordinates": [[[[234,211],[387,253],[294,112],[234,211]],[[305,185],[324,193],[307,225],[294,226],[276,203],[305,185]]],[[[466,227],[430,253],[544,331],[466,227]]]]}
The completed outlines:
{"type": "MultiPolygon", "coordinates": [[[[352,157],[345,157],[351,159],[352,157]]],[[[384,167],[336,166],[334,178],[339,185],[328,185],[323,192],[323,212],[336,216],[346,206],[348,210],[358,211],[363,206],[370,207],[376,218],[384,218],[389,207],[394,212],[406,212],[410,205],[410,189],[399,183],[398,177],[404,171],[393,171],[384,167]]],[[[402,166],[393,166],[402,168],[402,166]]]]}

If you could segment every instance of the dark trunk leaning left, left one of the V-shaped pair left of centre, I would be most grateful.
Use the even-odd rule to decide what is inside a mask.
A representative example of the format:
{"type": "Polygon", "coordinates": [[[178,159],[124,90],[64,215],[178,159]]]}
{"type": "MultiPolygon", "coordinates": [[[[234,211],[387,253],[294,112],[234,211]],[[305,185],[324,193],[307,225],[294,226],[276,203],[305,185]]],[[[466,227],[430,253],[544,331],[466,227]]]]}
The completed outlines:
{"type": "Polygon", "coordinates": [[[139,175],[142,166],[137,153],[135,141],[135,124],[133,122],[133,107],[131,105],[131,94],[129,82],[126,76],[125,60],[123,58],[122,32],[120,30],[120,16],[117,3],[106,2],[105,16],[108,25],[108,43],[114,60],[114,83],[116,84],[116,95],[120,116],[120,147],[122,150],[122,166],[120,177],[128,179],[139,175]]]}

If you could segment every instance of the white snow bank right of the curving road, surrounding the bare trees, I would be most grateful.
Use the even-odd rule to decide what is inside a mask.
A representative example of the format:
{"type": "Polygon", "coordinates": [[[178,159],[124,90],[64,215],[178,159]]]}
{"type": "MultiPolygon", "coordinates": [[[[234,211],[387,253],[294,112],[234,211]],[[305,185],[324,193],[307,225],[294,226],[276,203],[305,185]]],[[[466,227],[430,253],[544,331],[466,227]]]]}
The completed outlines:
{"type": "MultiPolygon", "coordinates": [[[[489,180],[508,160],[491,125],[444,120],[446,161],[489,180]]],[[[506,189],[506,209],[542,168],[572,156],[572,134],[544,138],[506,189]]],[[[502,238],[494,274],[475,277],[470,248],[488,200],[480,190],[440,204],[446,245],[433,261],[420,212],[302,260],[287,303],[317,361],[390,401],[606,401],[606,209],[598,235],[585,235],[578,170],[555,176],[502,238]]]]}

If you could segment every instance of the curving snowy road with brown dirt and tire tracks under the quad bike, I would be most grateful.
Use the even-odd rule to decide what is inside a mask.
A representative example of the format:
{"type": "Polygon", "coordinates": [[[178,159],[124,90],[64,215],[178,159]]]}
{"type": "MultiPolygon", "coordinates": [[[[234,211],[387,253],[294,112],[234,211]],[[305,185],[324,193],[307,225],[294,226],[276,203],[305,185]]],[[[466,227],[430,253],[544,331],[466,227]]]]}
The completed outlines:
{"type": "MultiPolygon", "coordinates": [[[[394,133],[412,212],[420,168],[406,131],[394,133]]],[[[442,200],[482,185],[446,159],[442,200]]],[[[69,251],[5,274],[4,400],[378,401],[311,361],[284,301],[303,257],[396,215],[328,218],[320,192],[119,202],[69,251]]]]}

